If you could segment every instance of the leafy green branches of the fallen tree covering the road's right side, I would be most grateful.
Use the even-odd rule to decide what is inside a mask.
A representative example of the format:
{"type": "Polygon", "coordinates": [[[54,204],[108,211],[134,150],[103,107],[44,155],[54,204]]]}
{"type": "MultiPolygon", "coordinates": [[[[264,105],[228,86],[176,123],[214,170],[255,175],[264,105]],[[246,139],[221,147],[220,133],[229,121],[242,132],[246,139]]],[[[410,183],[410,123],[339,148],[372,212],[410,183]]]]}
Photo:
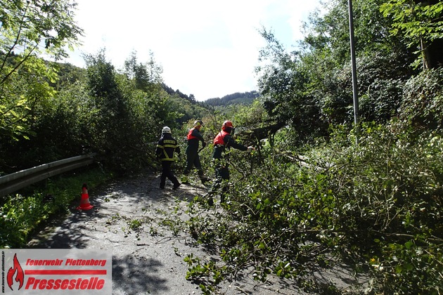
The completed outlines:
{"type": "Polygon", "coordinates": [[[310,166],[272,150],[232,159],[223,213],[199,217],[196,204],[190,209],[191,234],[217,245],[221,260],[189,257],[188,279],[214,289],[220,277],[253,268],[256,280],[272,274],[320,292],[330,286],[314,283],[314,270],[347,261],[369,270],[367,289],[375,293],[437,292],[443,141],[411,145],[396,128],[366,126],[359,146],[338,129],[332,145],[305,151],[310,166]]]}

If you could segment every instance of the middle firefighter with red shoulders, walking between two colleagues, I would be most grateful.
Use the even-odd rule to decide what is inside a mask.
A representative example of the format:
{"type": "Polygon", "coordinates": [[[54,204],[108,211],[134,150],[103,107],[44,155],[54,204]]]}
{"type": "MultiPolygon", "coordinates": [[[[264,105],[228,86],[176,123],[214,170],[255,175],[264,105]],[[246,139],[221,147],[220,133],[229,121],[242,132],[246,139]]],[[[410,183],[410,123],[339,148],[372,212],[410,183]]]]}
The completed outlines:
{"type": "Polygon", "coordinates": [[[202,142],[202,148],[206,146],[205,139],[200,133],[200,129],[203,127],[203,121],[197,120],[194,122],[194,127],[188,132],[188,146],[186,146],[186,168],[184,169],[184,176],[181,178],[181,183],[189,183],[188,174],[191,172],[193,166],[197,169],[198,177],[200,181],[205,184],[209,179],[205,176],[200,163],[200,157],[198,156],[198,145],[202,142]]]}

